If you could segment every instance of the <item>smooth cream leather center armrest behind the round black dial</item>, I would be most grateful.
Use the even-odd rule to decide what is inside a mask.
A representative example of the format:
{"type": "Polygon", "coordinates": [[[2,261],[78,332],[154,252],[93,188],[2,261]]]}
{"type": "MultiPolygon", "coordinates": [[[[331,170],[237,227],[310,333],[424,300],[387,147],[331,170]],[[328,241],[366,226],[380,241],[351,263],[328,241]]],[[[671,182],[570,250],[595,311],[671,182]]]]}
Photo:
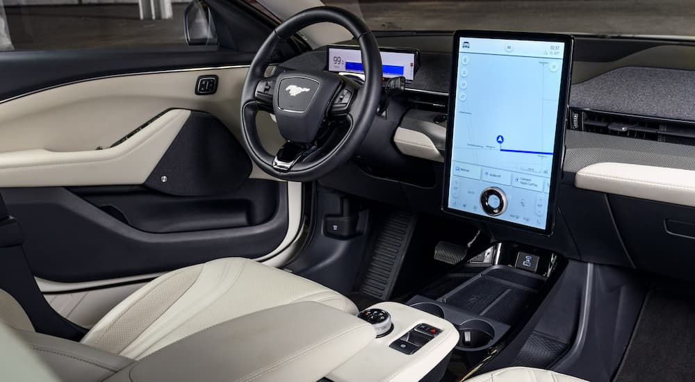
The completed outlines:
{"type": "Polygon", "coordinates": [[[375,336],[372,326],[354,315],[304,301],[190,335],[107,382],[318,381],[375,336]]]}

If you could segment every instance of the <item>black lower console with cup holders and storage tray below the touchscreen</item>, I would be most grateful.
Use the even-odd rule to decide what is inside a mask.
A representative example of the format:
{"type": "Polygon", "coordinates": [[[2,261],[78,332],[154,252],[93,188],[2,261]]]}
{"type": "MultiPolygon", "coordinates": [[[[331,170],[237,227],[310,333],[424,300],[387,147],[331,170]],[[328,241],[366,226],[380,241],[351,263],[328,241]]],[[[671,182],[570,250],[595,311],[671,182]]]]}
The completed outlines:
{"type": "Polygon", "coordinates": [[[451,322],[455,350],[471,374],[502,351],[546,298],[564,259],[523,244],[497,242],[458,266],[458,283],[441,281],[407,305],[451,322]],[[449,285],[447,287],[447,285],[449,285]]]}

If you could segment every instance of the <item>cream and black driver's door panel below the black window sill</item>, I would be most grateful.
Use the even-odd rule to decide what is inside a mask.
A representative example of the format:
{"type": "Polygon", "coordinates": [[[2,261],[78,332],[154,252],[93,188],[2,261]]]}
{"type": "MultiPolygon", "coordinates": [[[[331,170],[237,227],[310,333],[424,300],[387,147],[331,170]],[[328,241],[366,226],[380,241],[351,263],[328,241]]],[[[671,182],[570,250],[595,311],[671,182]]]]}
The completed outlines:
{"type": "MultiPolygon", "coordinates": [[[[288,247],[300,229],[299,185],[251,167],[245,152],[230,160],[172,145],[201,113],[210,117],[194,131],[221,123],[238,141],[246,72],[231,66],[117,75],[0,103],[0,193],[22,226],[35,276],[117,282],[220,257],[268,260],[288,247]],[[197,78],[209,75],[219,78],[217,92],[195,94],[197,78]],[[167,152],[173,160],[165,160],[167,152]],[[197,165],[182,168],[190,163],[197,165]],[[214,176],[220,168],[222,181],[214,176]],[[162,169],[167,183],[178,171],[172,183],[156,183],[162,169]]],[[[284,140],[275,122],[268,114],[258,122],[264,145],[277,150],[284,140]]],[[[238,142],[229,145],[235,149],[238,142]]]]}

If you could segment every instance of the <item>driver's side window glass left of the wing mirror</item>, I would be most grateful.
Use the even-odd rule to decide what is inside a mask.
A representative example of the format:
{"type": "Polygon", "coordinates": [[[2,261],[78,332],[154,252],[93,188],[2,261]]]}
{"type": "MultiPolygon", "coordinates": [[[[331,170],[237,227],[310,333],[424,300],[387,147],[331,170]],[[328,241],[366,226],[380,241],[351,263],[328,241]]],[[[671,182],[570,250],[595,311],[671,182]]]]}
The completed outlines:
{"type": "Polygon", "coordinates": [[[0,0],[0,49],[111,49],[186,44],[188,0],[0,0]]]}

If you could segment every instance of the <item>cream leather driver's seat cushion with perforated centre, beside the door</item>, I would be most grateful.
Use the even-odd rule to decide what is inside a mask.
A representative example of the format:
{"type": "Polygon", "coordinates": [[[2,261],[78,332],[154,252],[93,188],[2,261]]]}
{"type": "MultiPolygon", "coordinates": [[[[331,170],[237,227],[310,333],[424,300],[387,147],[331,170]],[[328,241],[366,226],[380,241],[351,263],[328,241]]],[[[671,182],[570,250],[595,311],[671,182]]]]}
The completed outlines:
{"type": "Polygon", "coordinates": [[[164,274],[131,294],[82,342],[140,359],[229,319],[300,301],[357,313],[322,285],[244,258],[222,258],[164,274]]]}

